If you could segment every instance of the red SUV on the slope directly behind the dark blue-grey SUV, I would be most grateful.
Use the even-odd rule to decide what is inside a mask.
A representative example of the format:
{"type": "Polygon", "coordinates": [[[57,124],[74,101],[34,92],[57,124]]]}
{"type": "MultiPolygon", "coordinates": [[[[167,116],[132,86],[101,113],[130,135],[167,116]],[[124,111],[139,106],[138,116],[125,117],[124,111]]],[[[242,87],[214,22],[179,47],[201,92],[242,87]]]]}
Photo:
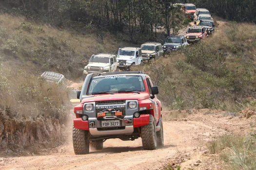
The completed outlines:
{"type": "Polygon", "coordinates": [[[188,43],[200,41],[205,37],[207,37],[205,26],[192,26],[186,32],[188,43]]]}

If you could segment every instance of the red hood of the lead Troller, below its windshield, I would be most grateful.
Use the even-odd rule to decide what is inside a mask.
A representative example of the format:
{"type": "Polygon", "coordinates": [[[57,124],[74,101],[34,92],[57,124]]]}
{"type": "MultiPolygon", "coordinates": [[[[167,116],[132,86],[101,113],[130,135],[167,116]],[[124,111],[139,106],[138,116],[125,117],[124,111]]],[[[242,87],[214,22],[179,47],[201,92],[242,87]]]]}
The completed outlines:
{"type": "Polygon", "coordinates": [[[81,103],[84,102],[99,102],[99,101],[116,101],[116,100],[144,100],[150,98],[149,94],[146,92],[138,93],[116,93],[114,95],[112,94],[96,94],[92,97],[85,98],[82,100],[81,103]]]}

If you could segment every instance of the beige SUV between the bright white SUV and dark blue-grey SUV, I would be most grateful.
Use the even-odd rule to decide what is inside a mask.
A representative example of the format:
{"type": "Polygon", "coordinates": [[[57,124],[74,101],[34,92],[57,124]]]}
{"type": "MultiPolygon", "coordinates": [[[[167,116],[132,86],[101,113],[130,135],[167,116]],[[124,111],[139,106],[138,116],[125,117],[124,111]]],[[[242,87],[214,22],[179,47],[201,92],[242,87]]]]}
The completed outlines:
{"type": "Polygon", "coordinates": [[[156,58],[163,55],[162,45],[157,42],[146,42],[140,48],[143,61],[156,60],[156,58]]]}

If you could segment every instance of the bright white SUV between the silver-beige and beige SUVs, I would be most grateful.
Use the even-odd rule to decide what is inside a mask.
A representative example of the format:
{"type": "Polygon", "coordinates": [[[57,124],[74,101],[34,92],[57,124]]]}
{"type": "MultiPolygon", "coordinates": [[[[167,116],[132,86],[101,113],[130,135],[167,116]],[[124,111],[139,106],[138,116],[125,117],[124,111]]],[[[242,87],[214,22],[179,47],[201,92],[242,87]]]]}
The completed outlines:
{"type": "Polygon", "coordinates": [[[118,68],[127,69],[131,66],[141,65],[141,49],[137,47],[124,47],[118,50],[118,68]]]}

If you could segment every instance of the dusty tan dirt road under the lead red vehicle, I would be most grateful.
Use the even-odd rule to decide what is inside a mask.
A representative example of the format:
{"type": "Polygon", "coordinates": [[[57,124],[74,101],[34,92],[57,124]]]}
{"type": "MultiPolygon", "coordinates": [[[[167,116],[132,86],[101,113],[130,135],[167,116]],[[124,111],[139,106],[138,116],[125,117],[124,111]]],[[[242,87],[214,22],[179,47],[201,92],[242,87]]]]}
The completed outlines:
{"type": "Polygon", "coordinates": [[[109,139],[103,150],[75,155],[70,134],[65,145],[46,155],[0,158],[0,170],[158,170],[169,164],[182,169],[217,170],[221,166],[208,153],[205,143],[222,133],[250,129],[245,118],[223,116],[220,111],[207,109],[194,111],[185,119],[164,121],[163,125],[165,146],[154,151],[143,150],[140,138],[109,139]]]}

